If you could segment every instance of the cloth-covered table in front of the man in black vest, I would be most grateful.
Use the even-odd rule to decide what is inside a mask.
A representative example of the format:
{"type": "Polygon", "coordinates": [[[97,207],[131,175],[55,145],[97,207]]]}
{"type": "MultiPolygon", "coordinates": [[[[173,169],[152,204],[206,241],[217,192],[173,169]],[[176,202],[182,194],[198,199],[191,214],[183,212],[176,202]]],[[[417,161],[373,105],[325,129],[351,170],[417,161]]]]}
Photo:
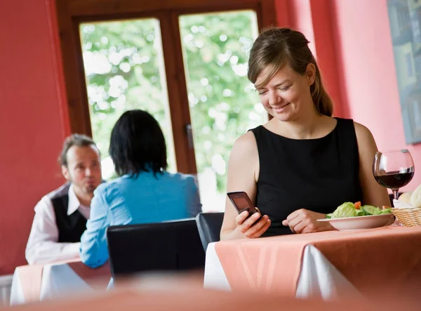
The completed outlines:
{"type": "Polygon", "coordinates": [[[98,289],[105,291],[110,277],[108,264],[91,269],[80,260],[17,267],[12,280],[11,305],[98,289]]]}

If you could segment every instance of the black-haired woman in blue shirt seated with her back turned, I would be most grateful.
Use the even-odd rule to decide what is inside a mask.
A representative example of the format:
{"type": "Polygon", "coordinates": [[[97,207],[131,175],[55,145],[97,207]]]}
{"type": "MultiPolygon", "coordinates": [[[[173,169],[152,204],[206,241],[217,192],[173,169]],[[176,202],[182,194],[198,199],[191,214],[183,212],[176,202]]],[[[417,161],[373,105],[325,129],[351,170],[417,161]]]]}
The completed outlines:
{"type": "Polygon", "coordinates": [[[166,145],[158,122],[142,110],[124,112],[111,133],[109,155],[119,178],[100,185],[81,237],[81,260],[89,267],[108,259],[109,225],[158,223],[201,212],[193,176],[168,173],[166,145]]]}

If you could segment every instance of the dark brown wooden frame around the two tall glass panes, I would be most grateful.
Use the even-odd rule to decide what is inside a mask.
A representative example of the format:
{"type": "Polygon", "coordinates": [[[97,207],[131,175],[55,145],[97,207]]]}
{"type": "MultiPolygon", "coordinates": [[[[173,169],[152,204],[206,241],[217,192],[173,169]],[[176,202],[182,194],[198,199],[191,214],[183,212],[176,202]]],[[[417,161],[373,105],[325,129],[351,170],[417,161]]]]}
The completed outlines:
{"type": "Polygon", "coordinates": [[[275,0],[55,0],[58,31],[72,133],[92,136],[79,25],[81,22],[158,18],[161,25],[168,102],[175,159],[181,173],[196,173],[194,148],[186,126],[191,124],[178,16],[253,10],[258,27],[276,25],[275,0]],[[177,27],[174,27],[177,25],[177,27]],[[175,48],[174,48],[175,47],[175,48]],[[175,55],[174,55],[175,51],[175,55]],[[171,56],[173,55],[173,56],[171,56]]]}

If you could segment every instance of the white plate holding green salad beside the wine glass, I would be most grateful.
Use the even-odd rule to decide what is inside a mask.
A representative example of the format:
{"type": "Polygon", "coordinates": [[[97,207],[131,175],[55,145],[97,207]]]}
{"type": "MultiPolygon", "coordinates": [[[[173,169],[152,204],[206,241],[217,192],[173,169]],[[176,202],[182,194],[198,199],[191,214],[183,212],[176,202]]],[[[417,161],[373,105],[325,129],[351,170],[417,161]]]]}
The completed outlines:
{"type": "Polygon", "coordinates": [[[356,216],[346,218],[319,219],[326,221],[337,230],[371,229],[391,225],[393,214],[356,216]]]}

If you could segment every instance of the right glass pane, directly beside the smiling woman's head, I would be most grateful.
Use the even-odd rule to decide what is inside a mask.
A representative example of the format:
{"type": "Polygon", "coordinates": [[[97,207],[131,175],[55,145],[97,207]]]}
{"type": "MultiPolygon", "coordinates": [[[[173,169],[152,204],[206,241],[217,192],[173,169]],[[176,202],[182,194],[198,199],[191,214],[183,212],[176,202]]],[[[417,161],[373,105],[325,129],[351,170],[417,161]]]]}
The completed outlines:
{"type": "Polygon", "coordinates": [[[267,121],[247,79],[257,18],[254,11],[182,15],[180,32],[203,211],[223,211],[232,145],[267,121]]]}

